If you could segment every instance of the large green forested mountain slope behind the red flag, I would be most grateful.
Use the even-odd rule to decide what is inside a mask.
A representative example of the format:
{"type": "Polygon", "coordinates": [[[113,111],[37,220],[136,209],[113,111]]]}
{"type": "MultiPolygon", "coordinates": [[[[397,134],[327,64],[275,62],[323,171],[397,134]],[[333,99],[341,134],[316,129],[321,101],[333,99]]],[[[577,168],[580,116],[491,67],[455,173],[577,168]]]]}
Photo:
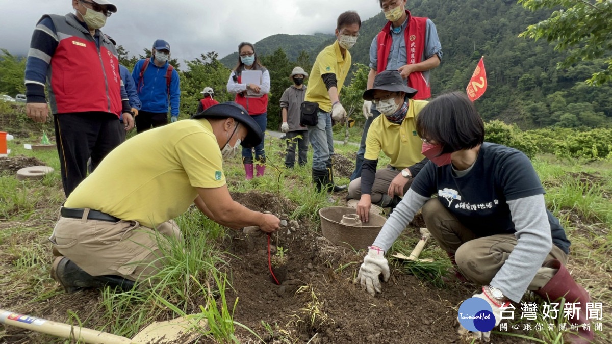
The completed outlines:
{"type": "MultiPolygon", "coordinates": [[[[554,51],[548,42],[518,37],[529,24],[548,18],[550,11],[531,12],[515,0],[409,0],[406,8],[412,15],[430,18],[438,29],[444,56],[431,73],[433,95],[464,91],[480,56],[484,56],[488,88],[476,101],[483,118],[502,119],[526,129],[608,124],[612,87],[583,82],[601,69],[603,59],[558,70],[556,64],[564,59],[564,53],[554,51]]],[[[370,44],[385,23],[383,13],[362,22],[359,39],[351,49],[353,62],[369,65],[370,44]]],[[[274,35],[255,45],[259,51],[259,43],[266,42],[270,53],[282,48],[295,61],[299,50],[289,37],[293,36],[274,35]]],[[[315,48],[304,47],[310,62],[334,39],[330,37],[315,48]]],[[[232,60],[236,61],[236,55],[232,60]]]]}

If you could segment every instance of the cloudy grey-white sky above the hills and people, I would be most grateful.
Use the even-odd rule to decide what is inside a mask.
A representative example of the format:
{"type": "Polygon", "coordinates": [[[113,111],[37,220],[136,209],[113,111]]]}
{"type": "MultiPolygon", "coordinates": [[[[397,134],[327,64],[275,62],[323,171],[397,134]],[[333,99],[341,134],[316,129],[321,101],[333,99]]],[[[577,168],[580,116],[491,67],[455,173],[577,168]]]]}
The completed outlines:
{"type": "MultiPolygon", "coordinates": [[[[356,10],[362,21],[380,11],[376,0],[111,0],[118,12],[103,32],[130,54],[151,48],[155,39],[170,43],[173,58],[193,59],[216,51],[237,51],[273,34],[333,33],[338,15],[356,10]]],[[[70,0],[0,0],[0,48],[26,54],[32,30],[45,13],[73,12],[70,0]]]]}

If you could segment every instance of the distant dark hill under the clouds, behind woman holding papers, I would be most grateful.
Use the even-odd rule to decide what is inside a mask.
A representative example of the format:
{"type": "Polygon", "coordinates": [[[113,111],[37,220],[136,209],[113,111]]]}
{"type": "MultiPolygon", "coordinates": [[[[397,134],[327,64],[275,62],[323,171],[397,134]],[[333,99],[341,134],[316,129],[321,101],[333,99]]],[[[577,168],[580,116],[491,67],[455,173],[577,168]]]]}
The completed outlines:
{"type": "MultiPolygon", "coordinates": [[[[316,33],[314,35],[288,35],[288,34],[275,34],[268,36],[259,42],[253,43],[255,50],[259,56],[274,53],[279,47],[282,47],[287,54],[287,57],[291,61],[295,61],[300,51],[305,50],[310,56],[316,56],[318,50],[316,49],[321,45],[322,42],[329,40],[334,37],[332,34],[316,33]]],[[[237,48],[237,47],[236,47],[237,48]]],[[[236,61],[238,61],[237,51],[224,56],[220,59],[221,63],[226,67],[233,69],[236,67],[236,61]]]]}

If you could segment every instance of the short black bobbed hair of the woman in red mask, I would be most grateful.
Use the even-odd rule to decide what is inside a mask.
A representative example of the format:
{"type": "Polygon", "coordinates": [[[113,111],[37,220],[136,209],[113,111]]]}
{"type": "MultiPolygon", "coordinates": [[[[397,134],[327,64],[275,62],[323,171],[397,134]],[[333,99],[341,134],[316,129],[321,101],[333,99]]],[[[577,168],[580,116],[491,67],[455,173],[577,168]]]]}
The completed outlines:
{"type": "Polygon", "coordinates": [[[471,149],[485,141],[485,124],[463,92],[438,95],[417,116],[417,134],[442,144],[442,152],[471,149]]]}

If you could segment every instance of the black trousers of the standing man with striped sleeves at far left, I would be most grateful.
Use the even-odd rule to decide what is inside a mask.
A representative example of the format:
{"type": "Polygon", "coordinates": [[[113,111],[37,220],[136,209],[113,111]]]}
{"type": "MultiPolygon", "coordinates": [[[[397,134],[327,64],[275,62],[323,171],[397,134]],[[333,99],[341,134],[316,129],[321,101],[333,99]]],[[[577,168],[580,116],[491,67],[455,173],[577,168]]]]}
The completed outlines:
{"type": "Polygon", "coordinates": [[[58,113],[53,116],[59,165],[66,197],[122,142],[123,125],[115,114],[103,112],[58,113]]]}

